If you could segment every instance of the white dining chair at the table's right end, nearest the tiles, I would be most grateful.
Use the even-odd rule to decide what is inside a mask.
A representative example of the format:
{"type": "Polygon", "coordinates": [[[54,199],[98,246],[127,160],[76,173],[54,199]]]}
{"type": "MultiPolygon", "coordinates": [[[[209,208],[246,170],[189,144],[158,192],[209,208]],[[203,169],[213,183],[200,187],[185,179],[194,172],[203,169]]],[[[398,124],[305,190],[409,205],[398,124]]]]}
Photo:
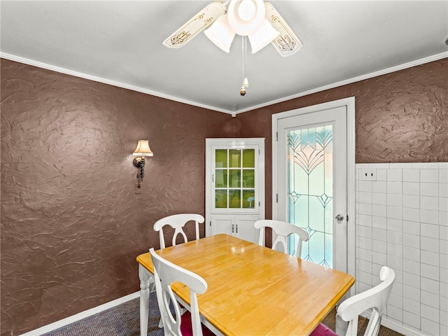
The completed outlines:
{"type": "Polygon", "coordinates": [[[391,295],[395,272],[383,266],[379,272],[381,283],[363,293],[359,293],[342,302],[337,308],[336,333],[320,323],[310,336],[356,336],[358,335],[358,316],[372,309],[364,336],[377,336],[381,317],[391,295]]]}

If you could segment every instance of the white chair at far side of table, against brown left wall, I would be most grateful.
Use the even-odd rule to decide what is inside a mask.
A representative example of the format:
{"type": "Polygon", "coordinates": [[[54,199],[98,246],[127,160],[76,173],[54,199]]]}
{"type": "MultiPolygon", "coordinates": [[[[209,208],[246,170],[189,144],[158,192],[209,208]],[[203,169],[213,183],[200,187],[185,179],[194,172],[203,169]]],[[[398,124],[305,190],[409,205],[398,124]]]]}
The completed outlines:
{"type": "Polygon", "coordinates": [[[163,235],[163,227],[165,225],[169,225],[172,228],[174,228],[174,235],[172,240],[172,245],[176,245],[176,237],[178,235],[181,235],[183,237],[183,241],[187,242],[187,236],[185,232],[183,231],[183,227],[188,223],[189,221],[195,222],[195,235],[196,240],[199,240],[199,223],[204,223],[204,217],[202,215],[198,214],[176,214],[172,216],[167,216],[164,218],[159,219],[157,222],[154,223],[154,230],[159,232],[159,238],[160,238],[160,248],[165,248],[165,237],[163,235]]]}

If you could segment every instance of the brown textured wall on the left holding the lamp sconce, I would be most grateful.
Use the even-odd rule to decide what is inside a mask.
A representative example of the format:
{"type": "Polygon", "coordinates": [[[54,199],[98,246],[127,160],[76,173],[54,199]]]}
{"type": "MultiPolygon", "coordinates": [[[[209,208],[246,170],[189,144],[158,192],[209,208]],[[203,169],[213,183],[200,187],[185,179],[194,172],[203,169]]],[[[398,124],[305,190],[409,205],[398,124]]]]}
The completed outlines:
{"type": "Polygon", "coordinates": [[[204,214],[204,139],[234,120],[2,59],[1,335],[139,290],[153,223],[204,214]],[[154,157],[136,195],[139,139],[154,157]]]}

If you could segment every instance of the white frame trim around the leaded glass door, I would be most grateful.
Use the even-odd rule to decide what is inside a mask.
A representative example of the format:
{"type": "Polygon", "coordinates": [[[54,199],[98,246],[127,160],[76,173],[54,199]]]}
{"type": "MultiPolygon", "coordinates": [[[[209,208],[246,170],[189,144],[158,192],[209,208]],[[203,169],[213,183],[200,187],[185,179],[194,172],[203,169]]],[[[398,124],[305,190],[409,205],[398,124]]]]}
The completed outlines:
{"type": "Polygon", "coordinates": [[[335,109],[337,107],[346,107],[347,111],[347,272],[355,276],[356,272],[356,208],[355,208],[355,97],[338,99],[332,102],[303,107],[272,115],[272,219],[278,218],[278,207],[276,194],[278,190],[277,176],[277,123],[279,119],[299,116],[306,113],[313,113],[326,109],[335,109]]]}

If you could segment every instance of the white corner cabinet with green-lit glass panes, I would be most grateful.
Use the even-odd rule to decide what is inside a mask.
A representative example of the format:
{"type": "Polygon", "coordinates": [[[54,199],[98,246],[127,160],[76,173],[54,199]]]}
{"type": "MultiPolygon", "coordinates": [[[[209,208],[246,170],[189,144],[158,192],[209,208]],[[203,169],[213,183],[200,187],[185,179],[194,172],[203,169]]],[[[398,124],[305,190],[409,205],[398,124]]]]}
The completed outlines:
{"type": "Polygon", "coordinates": [[[265,139],[206,139],[206,235],[258,241],[265,216],[265,139]]]}

